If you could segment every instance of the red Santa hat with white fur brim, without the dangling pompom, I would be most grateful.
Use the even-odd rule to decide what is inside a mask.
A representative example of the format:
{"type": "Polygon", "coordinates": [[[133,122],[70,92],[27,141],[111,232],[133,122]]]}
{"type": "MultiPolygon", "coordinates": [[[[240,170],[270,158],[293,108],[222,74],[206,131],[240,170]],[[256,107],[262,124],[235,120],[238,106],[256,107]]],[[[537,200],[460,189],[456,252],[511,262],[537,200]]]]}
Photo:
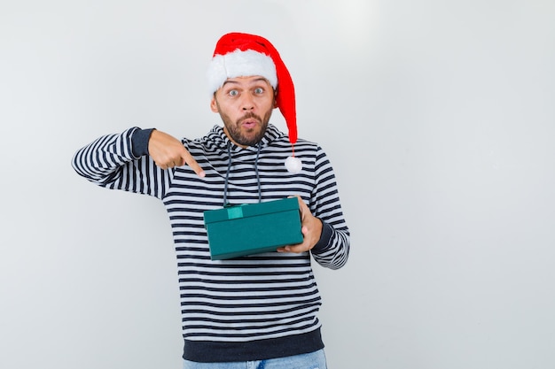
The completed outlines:
{"type": "MultiPolygon", "coordinates": [[[[229,78],[260,75],[277,91],[276,104],[285,118],[289,142],[297,142],[295,89],[276,48],[258,35],[231,33],[216,43],[214,57],[208,67],[210,92],[214,93],[229,78]]],[[[294,155],[293,155],[294,156],[294,155]]]]}

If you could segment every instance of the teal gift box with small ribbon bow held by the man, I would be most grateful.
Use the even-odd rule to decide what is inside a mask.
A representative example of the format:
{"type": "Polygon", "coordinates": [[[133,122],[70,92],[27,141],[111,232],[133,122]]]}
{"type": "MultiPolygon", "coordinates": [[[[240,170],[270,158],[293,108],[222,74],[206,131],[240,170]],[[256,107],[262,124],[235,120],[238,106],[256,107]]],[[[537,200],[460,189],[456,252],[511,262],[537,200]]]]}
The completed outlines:
{"type": "Polygon", "coordinates": [[[297,197],[205,211],[204,225],[212,260],[270,252],[302,242],[297,197]]]}

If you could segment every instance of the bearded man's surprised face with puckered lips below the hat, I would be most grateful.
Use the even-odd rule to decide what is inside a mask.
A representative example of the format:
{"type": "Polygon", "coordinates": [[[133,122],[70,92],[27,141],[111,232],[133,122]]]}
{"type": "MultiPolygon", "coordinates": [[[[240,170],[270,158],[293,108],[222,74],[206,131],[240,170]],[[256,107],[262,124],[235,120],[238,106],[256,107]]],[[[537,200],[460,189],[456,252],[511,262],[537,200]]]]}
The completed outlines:
{"type": "Polygon", "coordinates": [[[241,147],[262,140],[275,107],[274,89],[261,76],[230,78],[210,103],[222,117],[225,134],[241,147]]]}

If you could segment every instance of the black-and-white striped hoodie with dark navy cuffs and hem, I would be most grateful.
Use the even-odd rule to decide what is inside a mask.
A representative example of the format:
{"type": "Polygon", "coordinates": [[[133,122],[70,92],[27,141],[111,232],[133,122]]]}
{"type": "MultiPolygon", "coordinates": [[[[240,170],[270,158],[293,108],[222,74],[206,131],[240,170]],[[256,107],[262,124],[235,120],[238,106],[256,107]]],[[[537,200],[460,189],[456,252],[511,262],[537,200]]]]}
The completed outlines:
{"type": "Polygon", "coordinates": [[[248,361],[322,349],[317,313],[321,298],[311,257],[324,267],[345,265],[349,232],[335,177],[324,150],[299,140],[301,173],[288,173],[286,135],[269,125],[258,146],[240,148],[215,126],[199,139],[182,139],[206,173],[187,165],[162,170],[147,154],[151,130],[131,127],[104,135],[74,154],[74,170],[105,188],[155,196],[168,211],[179,278],[184,358],[248,361]],[[226,179],[227,178],[227,179],[226,179]],[[211,260],[203,212],[301,196],[323,222],[310,252],[262,253],[211,260]]]}

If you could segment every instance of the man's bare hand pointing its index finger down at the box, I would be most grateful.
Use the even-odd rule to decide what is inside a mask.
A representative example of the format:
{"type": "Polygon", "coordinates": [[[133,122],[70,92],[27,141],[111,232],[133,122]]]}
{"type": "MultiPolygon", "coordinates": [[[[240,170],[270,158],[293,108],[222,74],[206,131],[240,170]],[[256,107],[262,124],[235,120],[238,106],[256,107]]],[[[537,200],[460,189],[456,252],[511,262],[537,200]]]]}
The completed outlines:
{"type": "Polygon", "coordinates": [[[205,173],[199,163],[192,158],[191,153],[184,148],[181,141],[174,136],[168,135],[156,129],[152,130],[148,141],[148,154],[154,163],[161,169],[173,168],[174,166],[189,165],[191,169],[204,177],[205,173]]]}

